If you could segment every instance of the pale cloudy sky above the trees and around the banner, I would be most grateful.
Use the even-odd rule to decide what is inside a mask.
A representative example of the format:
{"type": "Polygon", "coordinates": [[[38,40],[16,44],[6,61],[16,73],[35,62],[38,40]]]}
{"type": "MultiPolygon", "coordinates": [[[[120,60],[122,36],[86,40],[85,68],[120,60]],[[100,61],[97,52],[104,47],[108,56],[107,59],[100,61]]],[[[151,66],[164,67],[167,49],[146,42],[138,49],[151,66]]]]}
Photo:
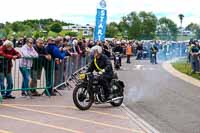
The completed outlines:
{"type": "MultiPolygon", "coordinates": [[[[0,22],[53,18],[76,24],[95,23],[100,0],[1,0],[0,22]]],[[[151,11],[158,18],[168,17],[180,25],[178,14],[185,15],[183,25],[200,23],[198,0],[106,0],[108,22],[119,22],[131,11],[151,11]]]]}

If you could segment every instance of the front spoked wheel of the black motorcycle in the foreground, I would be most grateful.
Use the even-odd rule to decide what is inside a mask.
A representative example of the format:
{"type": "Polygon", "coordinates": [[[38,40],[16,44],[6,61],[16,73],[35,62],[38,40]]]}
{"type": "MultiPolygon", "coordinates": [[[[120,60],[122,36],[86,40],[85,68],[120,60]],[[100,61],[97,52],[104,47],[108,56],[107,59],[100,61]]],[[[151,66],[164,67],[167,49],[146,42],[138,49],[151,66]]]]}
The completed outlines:
{"type": "Polygon", "coordinates": [[[88,110],[94,102],[91,92],[88,92],[87,88],[81,85],[74,89],[73,101],[80,110],[88,110]]]}

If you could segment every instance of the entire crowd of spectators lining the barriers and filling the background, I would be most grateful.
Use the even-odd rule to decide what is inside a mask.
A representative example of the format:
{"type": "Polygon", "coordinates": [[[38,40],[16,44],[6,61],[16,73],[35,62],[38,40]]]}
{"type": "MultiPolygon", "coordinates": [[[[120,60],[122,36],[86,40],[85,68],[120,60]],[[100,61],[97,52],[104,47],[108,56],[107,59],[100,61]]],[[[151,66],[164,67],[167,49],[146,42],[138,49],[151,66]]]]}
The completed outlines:
{"type": "MultiPolygon", "coordinates": [[[[44,94],[55,96],[54,87],[65,82],[66,75],[70,75],[76,69],[85,66],[93,59],[93,47],[99,45],[103,53],[112,58],[115,49],[120,49],[127,57],[136,56],[137,60],[149,59],[157,64],[159,60],[168,60],[173,57],[187,56],[192,65],[193,72],[198,72],[199,48],[198,41],[172,42],[172,41],[136,41],[136,40],[106,40],[94,42],[90,39],[77,39],[70,36],[43,38],[22,38],[19,40],[0,40],[0,87],[4,99],[14,99],[11,94],[13,86],[12,67],[13,62],[19,64],[22,76],[21,95],[40,96],[37,91],[37,80],[41,79],[42,71],[45,72],[46,88],[44,94]],[[189,53],[189,54],[188,54],[189,53]],[[66,58],[72,58],[71,62],[66,58]],[[78,57],[78,60],[73,60],[78,57]],[[16,60],[16,61],[15,61],[16,60]],[[78,63],[77,63],[78,62],[78,63]],[[79,64],[77,67],[76,65],[79,64]],[[66,71],[69,65],[70,70],[66,71]],[[77,67],[77,68],[76,68],[77,67]],[[6,87],[4,83],[6,79],[6,87]],[[31,88],[31,89],[29,89],[31,88]]],[[[16,63],[15,63],[16,64],[16,63]]],[[[63,89],[64,86],[59,86],[63,89]]]]}

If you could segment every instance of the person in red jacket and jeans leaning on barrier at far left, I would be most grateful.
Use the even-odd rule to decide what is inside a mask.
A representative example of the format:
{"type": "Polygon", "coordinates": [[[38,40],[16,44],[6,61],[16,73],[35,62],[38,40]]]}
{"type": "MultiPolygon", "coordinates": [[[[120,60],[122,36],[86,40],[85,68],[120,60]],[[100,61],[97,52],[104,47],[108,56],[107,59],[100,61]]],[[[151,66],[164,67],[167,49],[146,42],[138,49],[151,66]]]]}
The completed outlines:
{"type": "Polygon", "coordinates": [[[3,43],[0,47],[0,87],[1,95],[4,99],[14,99],[11,95],[13,89],[12,81],[12,59],[18,59],[21,57],[20,53],[13,48],[13,43],[9,40],[3,43]],[[7,87],[5,89],[4,79],[6,78],[7,87]]]}

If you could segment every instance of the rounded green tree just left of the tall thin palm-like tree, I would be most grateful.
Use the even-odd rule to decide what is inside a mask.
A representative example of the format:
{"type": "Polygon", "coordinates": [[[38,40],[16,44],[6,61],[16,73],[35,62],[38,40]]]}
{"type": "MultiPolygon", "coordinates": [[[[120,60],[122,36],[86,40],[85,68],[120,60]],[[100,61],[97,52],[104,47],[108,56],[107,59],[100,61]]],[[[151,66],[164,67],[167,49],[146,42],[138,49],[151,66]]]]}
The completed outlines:
{"type": "Polygon", "coordinates": [[[171,20],[166,17],[159,19],[159,27],[160,27],[160,34],[162,36],[168,36],[168,39],[172,37],[173,40],[176,40],[178,34],[177,25],[171,20]]]}

